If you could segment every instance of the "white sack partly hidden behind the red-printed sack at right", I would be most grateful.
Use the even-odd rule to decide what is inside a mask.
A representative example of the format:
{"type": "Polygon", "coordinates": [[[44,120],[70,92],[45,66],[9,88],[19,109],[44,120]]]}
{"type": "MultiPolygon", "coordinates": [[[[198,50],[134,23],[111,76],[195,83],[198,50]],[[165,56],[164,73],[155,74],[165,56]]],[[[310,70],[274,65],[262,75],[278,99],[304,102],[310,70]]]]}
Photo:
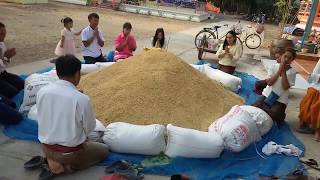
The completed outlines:
{"type": "Polygon", "coordinates": [[[273,121],[272,118],[266,112],[264,112],[260,108],[248,105],[240,106],[240,108],[249,113],[249,115],[258,127],[260,136],[263,136],[270,131],[273,125],[273,121]]]}

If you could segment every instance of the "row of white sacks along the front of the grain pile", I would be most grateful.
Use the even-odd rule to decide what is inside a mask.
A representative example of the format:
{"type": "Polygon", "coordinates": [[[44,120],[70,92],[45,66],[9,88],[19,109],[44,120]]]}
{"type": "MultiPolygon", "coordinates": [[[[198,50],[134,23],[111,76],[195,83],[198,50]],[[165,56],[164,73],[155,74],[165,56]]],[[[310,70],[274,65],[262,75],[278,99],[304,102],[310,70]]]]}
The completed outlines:
{"type": "MultiPolygon", "coordinates": [[[[35,113],[33,115],[36,117],[33,108],[30,112],[35,113]]],[[[165,128],[160,124],[133,125],[124,122],[111,123],[105,128],[100,121],[96,121],[96,128],[89,135],[89,140],[102,142],[102,139],[113,152],[143,155],[165,152],[172,158],[218,158],[224,148],[240,152],[260,140],[273,124],[267,113],[245,105],[234,106],[209,127],[209,132],[171,124],[165,128]]]]}

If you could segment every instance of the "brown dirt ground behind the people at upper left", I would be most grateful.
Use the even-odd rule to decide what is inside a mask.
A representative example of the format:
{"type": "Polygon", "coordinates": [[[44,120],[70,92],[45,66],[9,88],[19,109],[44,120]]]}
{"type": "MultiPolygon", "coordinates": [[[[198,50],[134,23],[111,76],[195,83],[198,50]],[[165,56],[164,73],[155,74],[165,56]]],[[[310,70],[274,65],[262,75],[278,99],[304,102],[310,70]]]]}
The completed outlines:
{"type": "MultiPolygon", "coordinates": [[[[60,31],[63,29],[60,20],[64,16],[71,17],[74,21],[74,29],[78,31],[88,25],[87,17],[91,12],[100,15],[100,28],[105,33],[106,46],[113,45],[114,37],[121,32],[123,23],[127,21],[132,23],[132,34],[137,40],[153,36],[155,29],[158,27],[163,27],[168,34],[199,26],[199,23],[195,22],[177,21],[53,1],[38,5],[0,2],[0,21],[7,26],[5,41],[7,46],[17,49],[17,55],[14,57],[11,66],[54,57],[60,31]]],[[[81,52],[80,46],[80,37],[78,37],[78,52],[81,52]]]]}

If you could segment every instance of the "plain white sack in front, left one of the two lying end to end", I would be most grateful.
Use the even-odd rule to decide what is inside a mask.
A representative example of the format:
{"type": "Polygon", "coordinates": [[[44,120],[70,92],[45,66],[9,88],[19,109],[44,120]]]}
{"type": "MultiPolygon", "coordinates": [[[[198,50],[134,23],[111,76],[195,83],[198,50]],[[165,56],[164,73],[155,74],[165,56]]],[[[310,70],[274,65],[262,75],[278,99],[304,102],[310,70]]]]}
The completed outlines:
{"type": "Polygon", "coordinates": [[[103,141],[113,152],[157,155],[166,147],[164,132],[165,127],[160,124],[116,122],[106,127],[103,141]]]}

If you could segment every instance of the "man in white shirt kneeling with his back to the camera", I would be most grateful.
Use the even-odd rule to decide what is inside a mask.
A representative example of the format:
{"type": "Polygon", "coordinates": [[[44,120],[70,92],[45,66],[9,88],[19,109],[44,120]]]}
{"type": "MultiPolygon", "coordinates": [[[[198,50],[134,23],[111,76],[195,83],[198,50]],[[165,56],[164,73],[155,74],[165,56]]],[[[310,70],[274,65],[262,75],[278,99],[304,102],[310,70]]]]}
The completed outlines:
{"type": "Polygon", "coordinates": [[[105,144],[87,141],[96,121],[89,97],[76,88],[80,69],[80,61],[73,55],[59,57],[59,80],[37,94],[38,136],[48,162],[41,180],[88,168],[107,157],[105,144]]]}

